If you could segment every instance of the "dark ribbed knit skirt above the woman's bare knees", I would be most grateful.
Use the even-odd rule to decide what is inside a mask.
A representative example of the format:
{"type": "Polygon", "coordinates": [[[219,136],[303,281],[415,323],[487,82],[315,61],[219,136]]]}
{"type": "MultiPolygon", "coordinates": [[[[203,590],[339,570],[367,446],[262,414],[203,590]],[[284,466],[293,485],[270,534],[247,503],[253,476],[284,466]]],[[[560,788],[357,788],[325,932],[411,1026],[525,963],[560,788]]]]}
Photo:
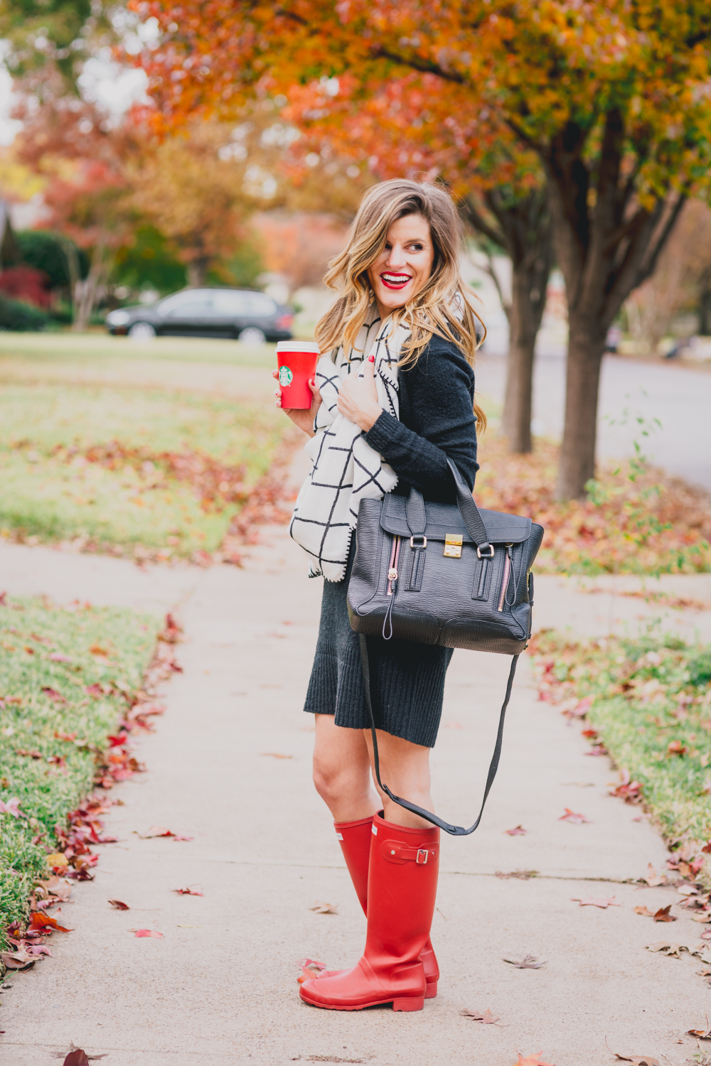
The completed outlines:
{"type": "MultiPolygon", "coordinates": [[[[354,551],[343,581],[324,581],[321,625],[304,710],[335,714],[345,729],[369,729],[358,634],[345,602],[354,551]]],[[[434,747],[442,713],[451,648],[369,636],[368,657],[377,677],[375,725],[413,744],[434,747]]]]}

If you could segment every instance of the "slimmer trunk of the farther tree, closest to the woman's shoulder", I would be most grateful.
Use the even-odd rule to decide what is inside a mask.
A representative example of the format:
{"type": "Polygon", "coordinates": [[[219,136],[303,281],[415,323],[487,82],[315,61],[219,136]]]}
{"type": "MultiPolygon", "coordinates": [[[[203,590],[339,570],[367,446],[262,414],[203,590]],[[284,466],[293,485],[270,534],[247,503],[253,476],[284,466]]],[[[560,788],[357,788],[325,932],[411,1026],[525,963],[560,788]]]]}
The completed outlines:
{"type": "Polygon", "coordinates": [[[533,356],[546,305],[548,266],[546,263],[544,269],[539,257],[527,256],[521,261],[512,262],[508,358],[501,421],[508,451],[517,454],[533,450],[533,356]]]}

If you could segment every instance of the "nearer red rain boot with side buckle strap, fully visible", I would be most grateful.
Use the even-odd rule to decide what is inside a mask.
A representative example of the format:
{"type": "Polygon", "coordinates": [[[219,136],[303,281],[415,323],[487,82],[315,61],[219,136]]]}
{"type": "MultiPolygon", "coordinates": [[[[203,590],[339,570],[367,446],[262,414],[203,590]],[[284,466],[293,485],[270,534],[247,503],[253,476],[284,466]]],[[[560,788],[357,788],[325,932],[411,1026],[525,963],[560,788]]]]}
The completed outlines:
{"type": "Polygon", "coordinates": [[[352,970],[305,981],[301,997],[329,1011],[382,1003],[421,1011],[426,982],[420,953],[435,910],[439,829],[413,829],[375,814],[372,834],[362,957],[352,970]]]}

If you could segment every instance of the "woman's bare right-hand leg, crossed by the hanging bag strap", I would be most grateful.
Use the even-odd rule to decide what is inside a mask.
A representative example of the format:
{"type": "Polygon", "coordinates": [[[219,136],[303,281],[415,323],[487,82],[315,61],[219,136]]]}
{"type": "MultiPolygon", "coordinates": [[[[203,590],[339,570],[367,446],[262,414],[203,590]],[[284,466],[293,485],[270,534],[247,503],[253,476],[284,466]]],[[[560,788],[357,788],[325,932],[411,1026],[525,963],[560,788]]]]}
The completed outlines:
{"type": "MultiPolygon", "coordinates": [[[[434,811],[430,793],[430,748],[423,747],[421,744],[413,744],[408,740],[403,740],[402,737],[393,737],[391,733],[383,732],[382,729],[375,731],[377,733],[381,780],[397,796],[409,800],[410,803],[416,803],[418,807],[424,807],[425,810],[434,811]]],[[[377,788],[370,729],[363,729],[362,736],[373,766],[373,784],[377,788]]],[[[430,822],[425,822],[423,818],[413,814],[405,807],[393,803],[379,789],[377,791],[387,822],[394,822],[395,825],[408,825],[418,829],[432,828],[430,822]]]]}

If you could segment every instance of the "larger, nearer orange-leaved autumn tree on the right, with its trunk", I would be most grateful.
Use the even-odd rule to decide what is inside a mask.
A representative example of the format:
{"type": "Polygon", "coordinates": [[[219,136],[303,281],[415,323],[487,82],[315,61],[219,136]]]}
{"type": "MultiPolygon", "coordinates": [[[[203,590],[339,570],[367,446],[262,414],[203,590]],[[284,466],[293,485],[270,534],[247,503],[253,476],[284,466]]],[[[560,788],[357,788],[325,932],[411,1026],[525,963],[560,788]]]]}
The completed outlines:
{"type": "Polygon", "coordinates": [[[368,94],[407,70],[452,86],[453,106],[495,112],[549,184],[569,349],[559,496],[595,469],[609,325],[653,273],[711,154],[707,0],[133,0],[160,47],[143,56],[167,123],[223,110],[259,83],[323,76],[368,94]]]}

